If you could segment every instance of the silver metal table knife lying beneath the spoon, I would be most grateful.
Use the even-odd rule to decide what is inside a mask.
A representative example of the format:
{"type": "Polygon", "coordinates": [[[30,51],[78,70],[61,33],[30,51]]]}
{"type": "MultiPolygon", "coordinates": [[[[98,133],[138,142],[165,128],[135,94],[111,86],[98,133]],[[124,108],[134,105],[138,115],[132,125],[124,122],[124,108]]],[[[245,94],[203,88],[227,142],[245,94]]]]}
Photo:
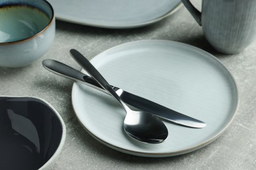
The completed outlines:
{"type": "MultiPolygon", "coordinates": [[[[87,84],[87,86],[91,86],[96,90],[100,90],[101,92],[108,94],[108,92],[103,90],[101,86],[97,82],[95,82],[93,78],[91,78],[91,76],[85,75],[84,73],[81,73],[81,71],[77,71],[76,69],[64,63],[53,59],[45,59],[43,60],[43,67],[45,67],[45,69],[51,71],[52,73],[55,73],[56,75],[69,78],[77,82],[82,82],[83,84],[87,84]]],[[[116,86],[112,86],[112,88],[115,91],[119,90],[119,88],[117,88],[116,86]]],[[[169,122],[173,122],[177,125],[193,128],[203,128],[206,126],[205,122],[202,122],[201,120],[186,116],[185,114],[181,114],[180,112],[171,110],[167,107],[164,107],[158,103],[154,103],[153,101],[150,101],[133,93],[123,91],[121,99],[128,105],[136,107],[140,110],[144,110],[146,112],[151,112],[156,116],[159,116],[160,118],[163,118],[164,120],[167,120],[169,122]]]]}

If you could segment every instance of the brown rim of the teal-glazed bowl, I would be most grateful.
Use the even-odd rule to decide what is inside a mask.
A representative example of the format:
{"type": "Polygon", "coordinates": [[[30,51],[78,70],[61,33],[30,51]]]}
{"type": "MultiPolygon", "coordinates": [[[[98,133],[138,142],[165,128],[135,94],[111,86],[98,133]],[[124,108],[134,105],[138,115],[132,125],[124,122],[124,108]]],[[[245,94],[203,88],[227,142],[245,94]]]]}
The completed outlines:
{"type": "MultiPolygon", "coordinates": [[[[45,0],[44,0],[45,1],[45,0]]],[[[51,24],[53,24],[53,21],[54,21],[54,10],[53,10],[53,7],[52,5],[48,2],[48,1],[45,1],[45,3],[47,3],[51,9],[51,11],[53,12],[53,16],[50,18],[50,22],[41,30],[39,31],[38,33],[36,33],[35,35],[32,35],[30,37],[27,37],[25,39],[21,39],[21,40],[18,40],[18,41],[11,41],[11,42],[0,42],[0,45],[9,45],[9,44],[17,44],[17,43],[20,43],[20,42],[24,42],[24,41],[29,41],[30,39],[33,39],[34,37],[37,37],[38,35],[40,35],[41,33],[43,33],[48,27],[50,27],[51,24]]]]}

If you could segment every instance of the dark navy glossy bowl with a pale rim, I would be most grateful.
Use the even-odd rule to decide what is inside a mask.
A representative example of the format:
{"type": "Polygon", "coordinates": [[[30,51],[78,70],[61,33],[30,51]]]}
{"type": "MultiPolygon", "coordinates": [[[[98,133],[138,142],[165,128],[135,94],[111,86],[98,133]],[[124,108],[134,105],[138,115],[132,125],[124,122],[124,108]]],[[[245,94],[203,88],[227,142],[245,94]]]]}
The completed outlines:
{"type": "Polygon", "coordinates": [[[58,112],[35,97],[0,97],[0,169],[49,169],[66,137],[58,112]]]}

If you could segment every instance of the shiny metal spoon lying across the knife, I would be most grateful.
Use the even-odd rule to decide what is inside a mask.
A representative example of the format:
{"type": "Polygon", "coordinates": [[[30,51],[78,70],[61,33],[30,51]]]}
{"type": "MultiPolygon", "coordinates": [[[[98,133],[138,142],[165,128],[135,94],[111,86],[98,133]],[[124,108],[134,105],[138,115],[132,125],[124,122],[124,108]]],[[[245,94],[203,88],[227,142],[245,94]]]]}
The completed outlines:
{"type": "Polygon", "coordinates": [[[144,111],[131,110],[119,97],[123,90],[119,89],[115,92],[112,86],[108,84],[105,78],[100,75],[96,68],[87,60],[82,54],[77,50],[70,50],[73,58],[77,63],[83,67],[91,75],[102,88],[112,95],[125,109],[126,116],[123,121],[123,129],[133,139],[140,141],[142,143],[162,143],[167,139],[168,130],[165,124],[161,120],[154,116],[154,114],[144,111]]]}

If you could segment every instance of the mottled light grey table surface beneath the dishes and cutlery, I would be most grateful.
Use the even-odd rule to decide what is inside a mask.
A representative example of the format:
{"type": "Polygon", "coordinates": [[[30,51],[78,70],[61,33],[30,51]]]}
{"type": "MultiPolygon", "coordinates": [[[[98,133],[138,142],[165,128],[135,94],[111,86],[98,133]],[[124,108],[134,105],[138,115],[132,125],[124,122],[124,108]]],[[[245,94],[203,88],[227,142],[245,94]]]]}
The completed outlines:
{"type": "MultiPolygon", "coordinates": [[[[196,2],[196,4],[200,2],[196,2]]],[[[216,52],[202,27],[181,7],[164,20],[135,29],[101,29],[56,22],[51,49],[32,65],[0,68],[0,95],[35,96],[58,110],[66,124],[66,142],[53,169],[255,169],[256,166],[256,41],[235,55],[216,52]],[[72,108],[72,80],[43,68],[43,59],[56,59],[81,69],[70,57],[76,48],[87,58],[118,44],[163,39],[191,44],[219,58],[230,70],[240,91],[240,106],[230,128],[213,143],[189,154],[169,158],[141,158],[117,152],[96,141],[79,124],[72,108]]]]}

